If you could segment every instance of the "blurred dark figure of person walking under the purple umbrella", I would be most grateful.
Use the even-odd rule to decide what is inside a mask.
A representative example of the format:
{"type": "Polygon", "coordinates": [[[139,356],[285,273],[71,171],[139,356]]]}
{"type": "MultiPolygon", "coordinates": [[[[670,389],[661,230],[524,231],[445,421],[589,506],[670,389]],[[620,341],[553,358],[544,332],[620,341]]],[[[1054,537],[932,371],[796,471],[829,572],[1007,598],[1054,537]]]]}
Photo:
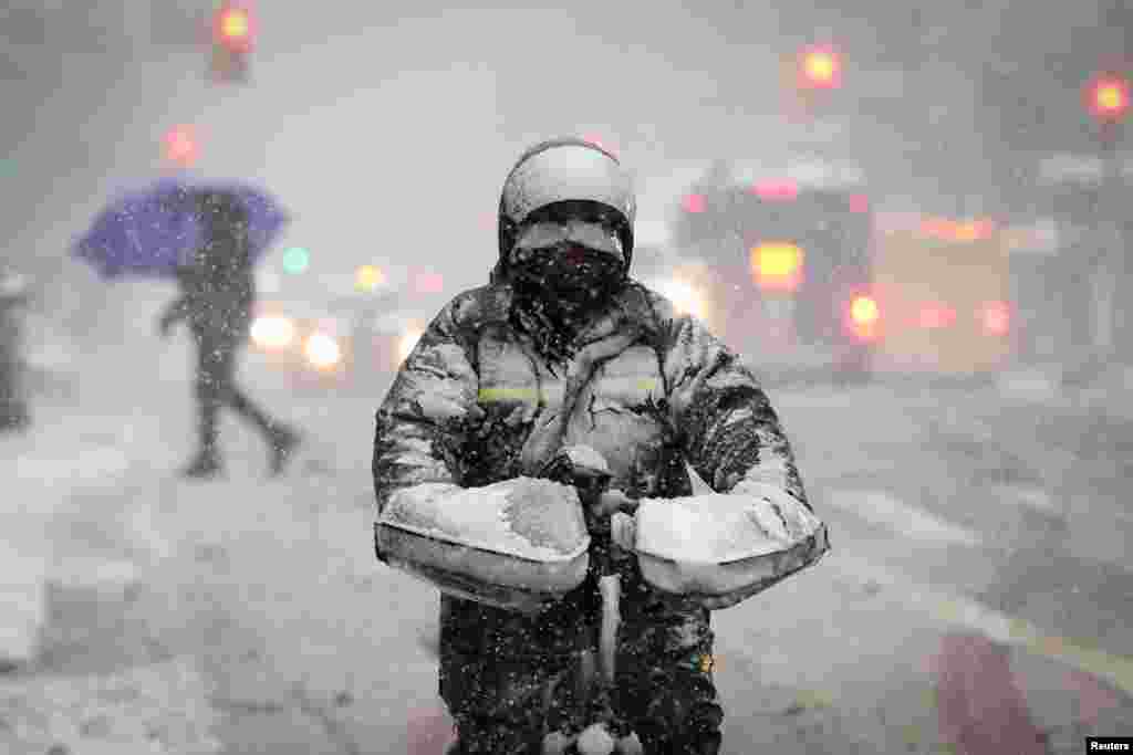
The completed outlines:
{"type": "Polygon", "coordinates": [[[197,344],[196,398],[199,448],[182,470],[210,478],[223,471],[218,446],[220,407],[227,405],[254,426],[271,448],[271,471],[279,474],[299,443],[299,434],[267,415],[236,384],[237,351],[247,341],[255,304],[255,275],[249,255],[247,213],[224,191],[196,195],[205,242],[178,268],[181,295],[162,314],[160,331],[188,320],[197,344]]]}

